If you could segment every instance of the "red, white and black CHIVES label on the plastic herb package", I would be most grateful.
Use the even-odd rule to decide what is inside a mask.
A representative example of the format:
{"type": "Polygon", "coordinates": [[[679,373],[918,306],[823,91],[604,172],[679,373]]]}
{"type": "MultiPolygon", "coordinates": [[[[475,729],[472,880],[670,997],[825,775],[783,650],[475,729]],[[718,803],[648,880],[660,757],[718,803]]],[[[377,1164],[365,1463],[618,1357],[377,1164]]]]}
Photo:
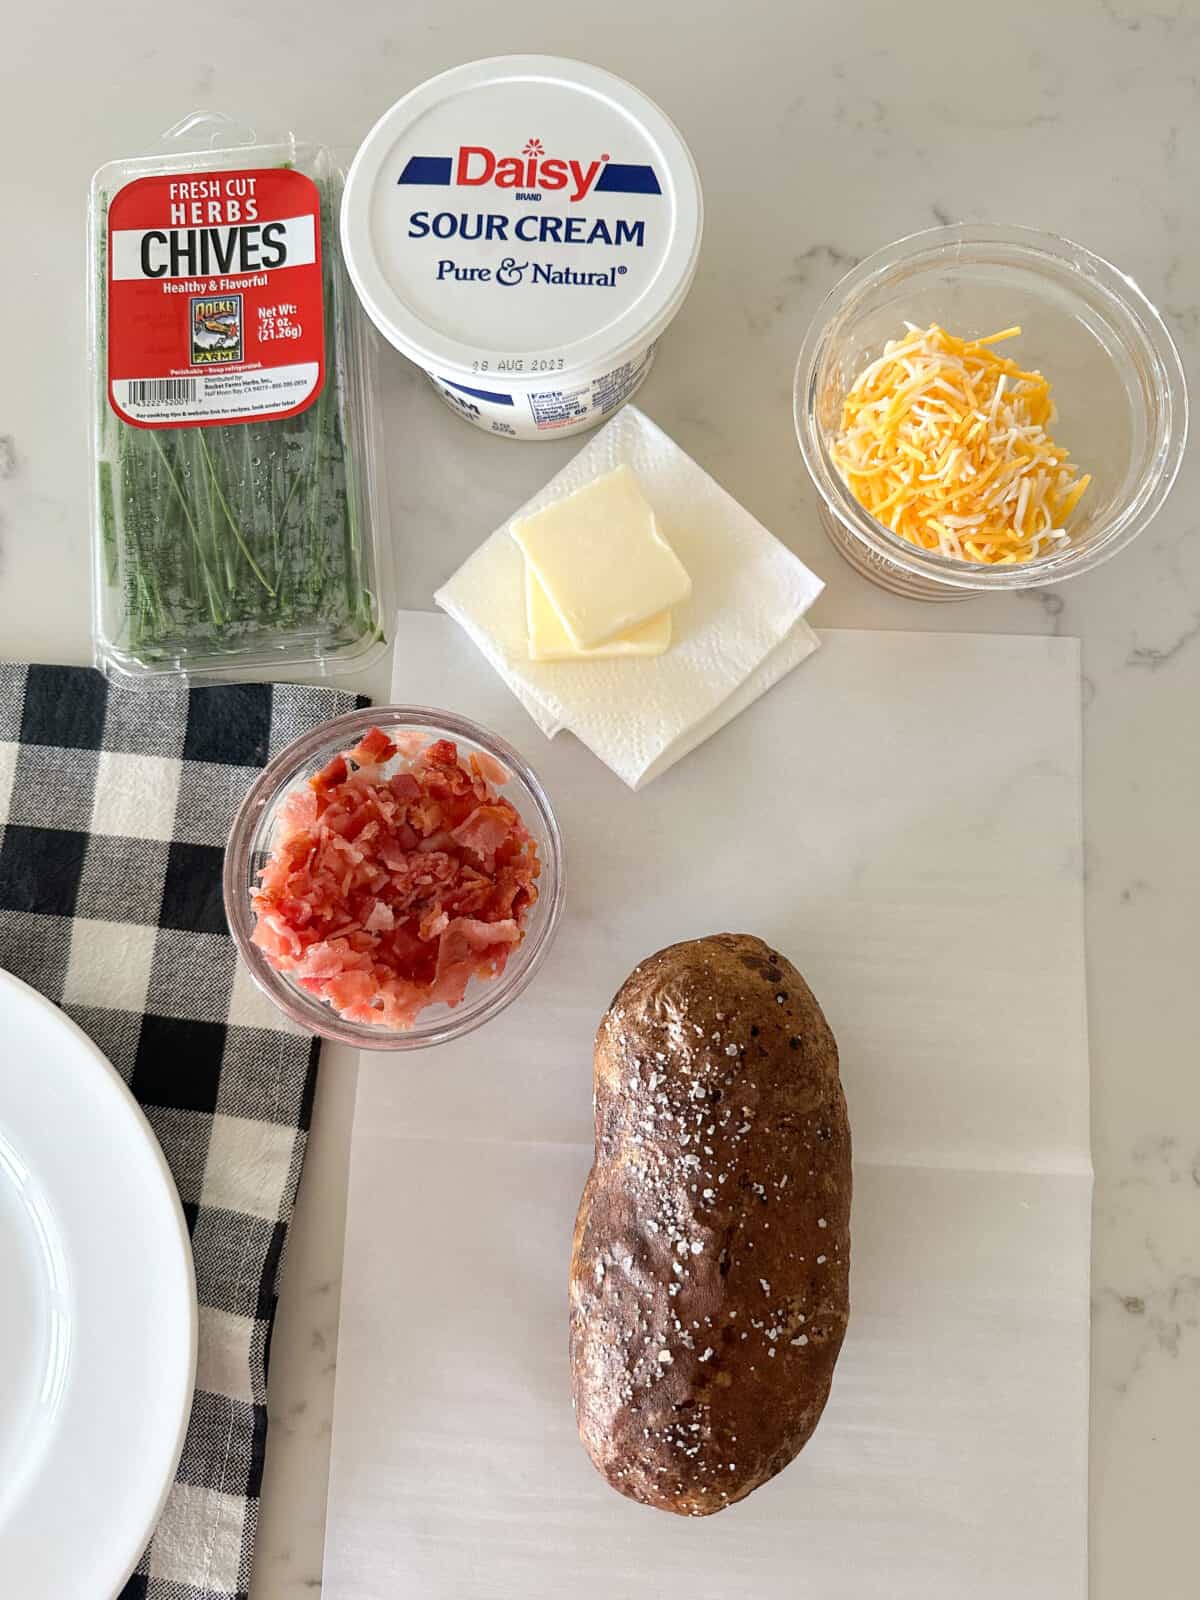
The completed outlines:
{"type": "Polygon", "coordinates": [[[320,195],[304,173],[138,178],[109,205],[109,402],[136,427],[302,411],[325,381],[320,195]]]}

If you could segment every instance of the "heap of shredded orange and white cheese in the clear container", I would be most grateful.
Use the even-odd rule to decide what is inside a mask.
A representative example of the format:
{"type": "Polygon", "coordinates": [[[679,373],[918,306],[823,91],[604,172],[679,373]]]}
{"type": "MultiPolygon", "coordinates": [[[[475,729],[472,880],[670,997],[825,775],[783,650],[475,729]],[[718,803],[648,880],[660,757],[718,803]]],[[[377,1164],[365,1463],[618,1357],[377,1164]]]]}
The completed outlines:
{"type": "Polygon", "coordinates": [[[851,494],[925,550],[1013,565],[1066,544],[1091,478],[1046,429],[1050,384],[992,349],[1019,328],[958,339],[906,323],[856,378],[834,464],[851,494]]]}

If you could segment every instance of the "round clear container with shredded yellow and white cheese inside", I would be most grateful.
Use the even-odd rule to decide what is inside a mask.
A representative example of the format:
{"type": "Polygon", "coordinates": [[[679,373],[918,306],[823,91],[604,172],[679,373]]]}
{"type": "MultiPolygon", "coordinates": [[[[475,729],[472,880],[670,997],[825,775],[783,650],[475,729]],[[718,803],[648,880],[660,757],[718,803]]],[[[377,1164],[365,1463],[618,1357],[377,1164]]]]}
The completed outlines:
{"type": "Polygon", "coordinates": [[[851,565],[952,600],[1061,582],[1136,538],[1179,470],[1187,389],[1117,267],[965,224],[842,278],[800,352],[795,426],[851,565]]]}

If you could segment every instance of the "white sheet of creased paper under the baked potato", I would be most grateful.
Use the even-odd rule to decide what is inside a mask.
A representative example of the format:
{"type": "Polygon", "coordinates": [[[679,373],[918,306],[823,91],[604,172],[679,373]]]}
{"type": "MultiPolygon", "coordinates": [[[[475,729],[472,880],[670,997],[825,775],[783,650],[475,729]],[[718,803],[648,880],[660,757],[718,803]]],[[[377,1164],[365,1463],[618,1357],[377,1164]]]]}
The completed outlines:
{"type": "Polygon", "coordinates": [[[395,698],[542,776],[568,910],[483,1032],[362,1061],[325,1600],[1086,1595],[1077,643],[822,643],[630,794],[448,619],[400,619],[395,698]],[[566,1261],[595,1024],[643,955],[722,930],[790,955],[838,1038],[853,1309],[798,1461],[691,1522],[576,1440],[566,1261]]]}

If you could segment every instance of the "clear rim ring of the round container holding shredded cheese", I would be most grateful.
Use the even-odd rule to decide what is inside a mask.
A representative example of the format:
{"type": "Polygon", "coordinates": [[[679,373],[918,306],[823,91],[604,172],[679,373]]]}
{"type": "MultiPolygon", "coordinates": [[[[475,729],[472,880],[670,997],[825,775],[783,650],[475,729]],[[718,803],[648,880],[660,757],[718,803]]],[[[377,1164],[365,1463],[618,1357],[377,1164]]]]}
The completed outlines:
{"type": "MultiPolygon", "coordinates": [[[[1051,374],[1053,376],[1053,374],[1051,374]]],[[[885,562],[918,578],[928,578],[955,589],[1034,589],[1062,582],[1106,562],[1133,541],[1157,515],[1176,480],[1187,443],[1187,381],[1182,360],[1163,318],[1131,277],[1110,261],[1094,254],[1059,234],[1034,227],[984,222],[955,222],[930,227],[885,245],[842,277],[826,294],[813,317],[795,366],[794,419],[808,475],[824,501],[826,510],[856,539],[867,544],[885,562]],[[1021,256],[1030,269],[1058,275],[1086,270],[1093,283],[1130,318],[1141,333],[1142,357],[1154,370],[1157,414],[1152,421],[1150,466],[1136,493],[1117,510],[1101,534],[1086,547],[1038,557],[1019,566],[976,566],[933,550],[922,550],[877,522],[851,494],[829,458],[816,421],[816,378],[824,363],[832,326],[851,302],[867,288],[928,259],[971,250],[1003,246],[1021,256]]]]}

